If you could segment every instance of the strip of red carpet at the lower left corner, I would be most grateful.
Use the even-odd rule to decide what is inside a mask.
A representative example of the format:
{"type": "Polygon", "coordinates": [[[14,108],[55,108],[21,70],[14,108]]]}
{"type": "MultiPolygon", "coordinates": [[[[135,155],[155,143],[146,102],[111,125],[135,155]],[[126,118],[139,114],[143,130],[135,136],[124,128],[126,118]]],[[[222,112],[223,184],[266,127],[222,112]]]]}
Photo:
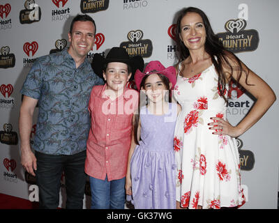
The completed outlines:
{"type": "Polygon", "coordinates": [[[38,202],[31,202],[27,199],[0,194],[0,209],[38,209],[38,206],[38,202]]]}

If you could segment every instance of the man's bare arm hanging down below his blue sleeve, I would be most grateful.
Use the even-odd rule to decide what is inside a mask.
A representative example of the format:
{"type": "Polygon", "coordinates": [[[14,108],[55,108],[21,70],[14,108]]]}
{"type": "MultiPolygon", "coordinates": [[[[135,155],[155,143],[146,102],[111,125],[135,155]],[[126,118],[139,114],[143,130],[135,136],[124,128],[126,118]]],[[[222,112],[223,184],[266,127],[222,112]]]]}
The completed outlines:
{"type": "Polygon", "coordinates": [[[22,166],[35,176],[34,170],[37,169],[37,160],[30,146],[30,134],[33,123],[33,112],[37,105],[38,100],[23,96],[22,105],[20,107],[20,151],[22,166]]]}

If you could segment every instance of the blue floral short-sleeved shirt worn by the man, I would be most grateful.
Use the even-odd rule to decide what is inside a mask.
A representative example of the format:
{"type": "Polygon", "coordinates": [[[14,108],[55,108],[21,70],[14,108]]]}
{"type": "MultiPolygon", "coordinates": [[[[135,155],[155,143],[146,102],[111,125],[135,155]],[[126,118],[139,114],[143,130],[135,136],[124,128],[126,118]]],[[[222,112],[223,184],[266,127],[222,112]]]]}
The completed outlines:
{"type": "Polygon", "coordinates": [[[86,149],[91,89],[102,85],[87,59],[75,68],[68,49],[33,63],[21,93],[38,99],[33,148],[40,153],[72,155],[86,149]]]}

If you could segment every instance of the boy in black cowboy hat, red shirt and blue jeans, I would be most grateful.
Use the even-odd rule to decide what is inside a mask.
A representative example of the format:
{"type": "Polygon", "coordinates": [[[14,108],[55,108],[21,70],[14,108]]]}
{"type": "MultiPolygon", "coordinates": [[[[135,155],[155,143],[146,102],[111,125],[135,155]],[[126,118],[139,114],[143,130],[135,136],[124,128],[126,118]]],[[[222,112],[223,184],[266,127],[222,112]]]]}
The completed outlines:
{"type": "Polygon", "coordinates": [[[132,118],[138,104],[137,91],[126,84],[137,68],[143,69],[144,61],[113,47],[105,59],[94,54],[92,67],[97,75],[103,74],[106,84],[94,86],[89,100],[85,172],[90,176],[91,208],[123,209],[132,118]]]}

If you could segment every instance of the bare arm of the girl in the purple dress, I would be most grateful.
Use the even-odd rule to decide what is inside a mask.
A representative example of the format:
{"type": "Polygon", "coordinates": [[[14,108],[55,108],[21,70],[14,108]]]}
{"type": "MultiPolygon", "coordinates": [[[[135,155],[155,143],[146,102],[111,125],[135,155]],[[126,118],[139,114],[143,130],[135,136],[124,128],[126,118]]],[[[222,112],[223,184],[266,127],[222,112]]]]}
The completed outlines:
{"type": "MultiPolygon", "coordinates": [[[[133,116],[133,126],[134,126],[134,122],[135,122],[135,115],[133,116]]],[[[137,135],[138,135],[137,140],[140,141],[140,120],[139,120],[139,127],[137,129],[137,135]]],[[[137,144],[135,143],[135,140],[134,140],[134,130],[133,130],[130,150],[128,153],[128,164],[127,164],[126,183],[125,183],[125,190],[126,190],[126,194],[128,194],[128,195],[132,195],[132,180],[131,180],[131,176],[130,176],[130,160],[135,151],[136,146],[137,146],[137,144]]]]}

